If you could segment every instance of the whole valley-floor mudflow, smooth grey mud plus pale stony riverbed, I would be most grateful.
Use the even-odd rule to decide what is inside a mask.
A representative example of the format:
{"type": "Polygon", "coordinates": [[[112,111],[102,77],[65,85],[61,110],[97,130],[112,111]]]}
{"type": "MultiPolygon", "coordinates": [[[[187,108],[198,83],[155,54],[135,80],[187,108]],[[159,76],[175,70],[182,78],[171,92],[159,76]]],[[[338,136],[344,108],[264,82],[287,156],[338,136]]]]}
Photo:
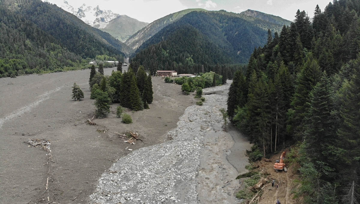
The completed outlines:
{"type": "MultiPolygon", "coordinates": [[[[110,75],[113,69],[105,69],[110,75]]],[[[116,107],[93,119],[90,70],[0,79],[0,203],[237,203],[250,144],[222,130],[227,85],[204,89],[206,101],[153,77],[150,109],[123,124],[116,107]],[[71,99],[73,83],[84,91],[71,99]],[[137,132],[124,143],[117,133],[137,132]],[[46,148],[32,141],[47,141],[46,148]]]]}

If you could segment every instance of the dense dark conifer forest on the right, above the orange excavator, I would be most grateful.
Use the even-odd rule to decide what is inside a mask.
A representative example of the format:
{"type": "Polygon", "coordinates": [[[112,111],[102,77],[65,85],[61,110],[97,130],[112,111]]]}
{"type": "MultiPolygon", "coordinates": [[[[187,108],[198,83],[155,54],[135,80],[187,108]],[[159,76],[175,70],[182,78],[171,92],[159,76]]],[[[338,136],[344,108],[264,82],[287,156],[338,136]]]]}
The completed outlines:
{"type": "Polygon", "coordinates": [[[229,89],[231,121],[266,156],[293,146],[299,203],[360,202],[360,1],[298,10],[229,89]],[[285,144],[285,145],[284,145],[285,144]]]}

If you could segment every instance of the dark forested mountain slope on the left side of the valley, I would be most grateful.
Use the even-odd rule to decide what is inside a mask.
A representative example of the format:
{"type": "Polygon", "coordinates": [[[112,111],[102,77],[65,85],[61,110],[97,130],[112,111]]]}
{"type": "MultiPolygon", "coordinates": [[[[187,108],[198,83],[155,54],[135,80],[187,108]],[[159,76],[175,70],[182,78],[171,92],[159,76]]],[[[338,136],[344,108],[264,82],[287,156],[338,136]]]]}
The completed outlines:
{"type": "Polygon", "coordinates": [[[124,56],[120,41],[40,0],[0,1],[0,33],[1,77],[61,70],[96,55],[124,56]]]}

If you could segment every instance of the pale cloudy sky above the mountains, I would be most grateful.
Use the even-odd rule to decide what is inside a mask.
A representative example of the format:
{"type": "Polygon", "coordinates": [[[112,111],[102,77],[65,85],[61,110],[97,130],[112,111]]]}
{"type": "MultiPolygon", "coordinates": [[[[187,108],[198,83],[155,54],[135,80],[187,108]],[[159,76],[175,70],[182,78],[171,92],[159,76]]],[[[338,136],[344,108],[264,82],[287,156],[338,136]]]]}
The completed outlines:
{"type": "Polygon", "coordinates": [[[273,14],[292,21],[297,9],[313,16],[316,4],[321,11],[332,0],[67,0],[71,5],[99,5],[100,9],[128,15],[151,23],[165,15],[188,9],[204,8],[240,13],[247,9],[273,14]]]}

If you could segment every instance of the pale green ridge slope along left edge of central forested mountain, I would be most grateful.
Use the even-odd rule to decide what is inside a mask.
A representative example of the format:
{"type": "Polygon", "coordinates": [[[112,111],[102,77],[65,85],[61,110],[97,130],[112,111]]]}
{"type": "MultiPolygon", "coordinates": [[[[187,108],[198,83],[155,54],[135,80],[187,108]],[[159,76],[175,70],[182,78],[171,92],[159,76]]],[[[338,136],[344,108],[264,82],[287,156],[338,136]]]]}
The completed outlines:
{"type": "Polygon", "coordinates": [[[159,18],[156,21],[153,21],[152,23],[148,24],[138,32],[136,32],[134,35],[129,37],[125,41],[125,44],[128,45],[131,49],[136,50],[138,47],[143,44],[146,40],[148,40],[150,37],[155,35],[157,32],[159,32],[162,28],[165,26],[174,23],[181,17],[183,17],[185,14],[193,12],[193,11],[207,11],[205,9],[185,9],[181,10],[176,13],[172,13],[169,15],[166,15],[165,17],[159,18]]]}

